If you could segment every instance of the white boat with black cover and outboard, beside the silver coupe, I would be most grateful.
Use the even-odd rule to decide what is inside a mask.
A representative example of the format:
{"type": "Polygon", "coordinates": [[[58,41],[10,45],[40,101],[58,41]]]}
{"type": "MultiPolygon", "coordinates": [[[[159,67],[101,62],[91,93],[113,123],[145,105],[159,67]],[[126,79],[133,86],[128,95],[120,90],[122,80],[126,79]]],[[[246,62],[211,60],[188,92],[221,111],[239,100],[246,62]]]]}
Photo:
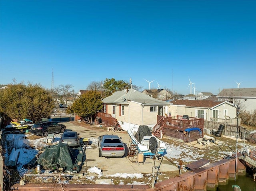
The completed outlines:
{"type": "Polygon", "coordinates": [[[138,128],[129,128],[127,132],[132,140],[132,144],[135,144],[138,152],[143,153],[145,157],[163,156],[166,154],[165,142],[152,135],[148,126],[141,125],[138,128]]]}

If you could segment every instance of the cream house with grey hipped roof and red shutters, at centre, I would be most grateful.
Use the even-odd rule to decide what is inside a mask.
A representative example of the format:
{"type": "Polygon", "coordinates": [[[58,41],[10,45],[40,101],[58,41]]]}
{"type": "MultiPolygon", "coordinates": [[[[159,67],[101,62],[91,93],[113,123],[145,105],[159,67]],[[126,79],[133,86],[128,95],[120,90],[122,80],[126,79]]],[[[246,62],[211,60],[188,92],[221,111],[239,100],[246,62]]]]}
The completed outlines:
{"type": "Polygon", "coordinates": [[[152,98],[134,89],[117,91],[102,100],[104,113],[118,120],[123,130],[129,127],[147,125],[154,127],[157,116],[168,112],[169,102],[152,98]]]}

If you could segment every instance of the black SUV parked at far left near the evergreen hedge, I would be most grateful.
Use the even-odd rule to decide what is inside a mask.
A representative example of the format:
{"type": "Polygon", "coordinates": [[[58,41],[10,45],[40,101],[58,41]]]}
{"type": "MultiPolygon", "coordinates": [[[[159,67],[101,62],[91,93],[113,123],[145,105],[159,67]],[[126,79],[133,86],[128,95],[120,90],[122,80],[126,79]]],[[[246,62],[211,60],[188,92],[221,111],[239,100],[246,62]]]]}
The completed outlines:
{"type": "Polygon", "coordinates": [[[66,129],[66,126],[63,124],[58,124],[56,122],[36,122],[32,128],[31,133],[39,136],[47,137],[51,133],[63,133],[66,129]]]}

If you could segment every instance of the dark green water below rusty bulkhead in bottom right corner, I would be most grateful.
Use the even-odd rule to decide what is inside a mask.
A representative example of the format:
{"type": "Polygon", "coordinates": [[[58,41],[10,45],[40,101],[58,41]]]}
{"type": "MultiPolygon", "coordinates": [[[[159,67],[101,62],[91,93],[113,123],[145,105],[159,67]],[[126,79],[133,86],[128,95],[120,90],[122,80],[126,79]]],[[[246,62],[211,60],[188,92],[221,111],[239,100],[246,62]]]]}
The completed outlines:
{"type": "Polygon", "coordinates": [[[234,180],[229,180],[228,185],[219,185],[217,191],[234,191],[232,185],[240,186],[241,191],[256,191],[256,181],[253,181],[253,176],[248,173],[238,176],[236,183],[234,180]]]}

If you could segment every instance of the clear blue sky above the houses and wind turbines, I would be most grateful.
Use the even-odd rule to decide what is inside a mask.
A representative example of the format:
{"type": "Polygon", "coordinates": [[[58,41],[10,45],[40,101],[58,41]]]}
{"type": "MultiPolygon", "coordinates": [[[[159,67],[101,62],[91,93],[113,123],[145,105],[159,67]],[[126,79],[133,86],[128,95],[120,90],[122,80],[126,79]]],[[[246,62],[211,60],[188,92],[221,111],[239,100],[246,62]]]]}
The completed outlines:
{"type": "Polygon", "coordinates": [[[189,79],[196,93],[256,87],[256,1],[0,1],[0,84],[50,89],[52,71],[75,91],[106,78],[183,95],[189,79]]]}

